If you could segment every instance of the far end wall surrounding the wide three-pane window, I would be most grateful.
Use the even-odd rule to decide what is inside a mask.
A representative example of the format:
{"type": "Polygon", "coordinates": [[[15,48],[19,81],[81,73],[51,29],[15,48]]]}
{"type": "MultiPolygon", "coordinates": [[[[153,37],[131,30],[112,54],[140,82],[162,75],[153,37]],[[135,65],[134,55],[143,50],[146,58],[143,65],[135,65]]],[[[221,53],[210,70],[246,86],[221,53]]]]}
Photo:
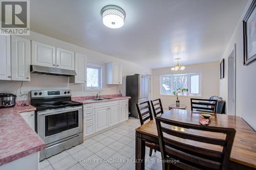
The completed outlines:
{"type": "MultiPolygon", "coordinates": [[[[202,98],[208,99],[212,95],[219,96],[219,80],[220,70],[219,63],[205,63],[187,65],[185,70],[172,71],[170,68],[158,68],[153,69],[153,97],[154,99],[160,98],[163,107],[168,108],[168,105],[176,103],[176,97],[174,95],[160,95],[160,76],[161,75],[175,75],[175,74],[189,74],[189,73],[201,73],[202,74],[202,98]]],[[[195,97],[192,97],[195,98],[195,97]]],[[[186,109],[190,109],[190,96],[179,96],[180,103],[187,106],[186,109]]]]}

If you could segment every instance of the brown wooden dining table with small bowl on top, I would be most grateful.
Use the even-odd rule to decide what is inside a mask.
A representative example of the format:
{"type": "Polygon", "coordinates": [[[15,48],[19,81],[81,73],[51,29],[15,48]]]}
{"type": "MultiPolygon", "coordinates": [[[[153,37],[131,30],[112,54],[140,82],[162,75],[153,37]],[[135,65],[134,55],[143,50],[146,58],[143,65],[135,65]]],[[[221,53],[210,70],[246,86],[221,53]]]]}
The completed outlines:
{"type": "MultiPolygon", "coordinates": [[[[202,112],[197,111],[172,109],[164,111],[160,116],[179,122],[199,125],[199,119],[202,118],[201,114],[202,112]]],[[[226,114],[211,114],[208,126],[236,129],[229,169],[256,169],[256,132],[241,117],[226,114]]],[[[189,129],[184,128],[173,127],[173,129],[196,133],[196,131],[189,132],[189,129]]],[[[212,133],[208,135],[221,138],[221,135],[213,134],[215,132],[207,133],[212,133]]],[[[145,141],[159,144],[155,119],[136,129],[135,167],[137,170],[144,170],[145,141]]]]}

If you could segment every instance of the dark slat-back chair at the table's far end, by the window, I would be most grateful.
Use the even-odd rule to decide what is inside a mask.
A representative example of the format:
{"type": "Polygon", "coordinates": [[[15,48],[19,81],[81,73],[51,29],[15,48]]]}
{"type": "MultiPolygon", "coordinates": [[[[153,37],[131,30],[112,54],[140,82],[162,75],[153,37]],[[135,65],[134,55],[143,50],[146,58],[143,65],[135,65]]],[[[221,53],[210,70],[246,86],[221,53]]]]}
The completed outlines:
{"type": "Polygon", "coordinates": [[[209,112],[217,113],[217,104],[218,100],[209,100],[209,99],[190,99],[191,111],[209,112]]]}

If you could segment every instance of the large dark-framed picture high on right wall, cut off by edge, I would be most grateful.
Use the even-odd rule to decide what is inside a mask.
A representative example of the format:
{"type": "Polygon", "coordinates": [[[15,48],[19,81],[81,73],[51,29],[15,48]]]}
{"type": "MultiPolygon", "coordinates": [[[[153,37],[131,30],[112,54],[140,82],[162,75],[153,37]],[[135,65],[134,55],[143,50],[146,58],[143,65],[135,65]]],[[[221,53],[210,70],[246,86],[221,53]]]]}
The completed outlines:
{"type": "Polygon", "coordinates": [[[243,19],[244,65],[256,60],[256,0],[253,0],[243,19]]]}

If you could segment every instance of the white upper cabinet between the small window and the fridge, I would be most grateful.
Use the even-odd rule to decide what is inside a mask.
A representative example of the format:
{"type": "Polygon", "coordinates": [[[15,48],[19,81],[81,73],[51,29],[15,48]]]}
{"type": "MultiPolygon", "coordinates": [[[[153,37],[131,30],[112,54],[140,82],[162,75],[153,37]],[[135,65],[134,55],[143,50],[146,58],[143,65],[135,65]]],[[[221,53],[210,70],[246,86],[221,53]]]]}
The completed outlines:
{"type": "Polygon", "coordinates": [[[106,84],[122,84],[122,67],[120,63],[106,63],[106,84]]]}

